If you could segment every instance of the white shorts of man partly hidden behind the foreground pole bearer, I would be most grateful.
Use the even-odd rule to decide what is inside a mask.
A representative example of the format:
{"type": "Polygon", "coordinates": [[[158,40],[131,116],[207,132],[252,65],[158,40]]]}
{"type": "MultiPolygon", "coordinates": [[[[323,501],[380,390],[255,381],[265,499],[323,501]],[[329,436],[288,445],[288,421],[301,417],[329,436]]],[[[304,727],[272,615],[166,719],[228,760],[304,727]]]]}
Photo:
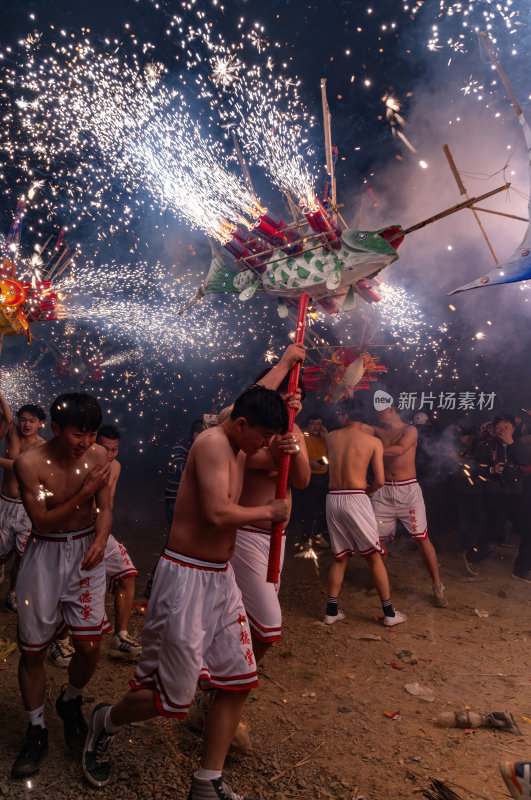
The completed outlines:
{"type": "MultiPolygon", "coordinates": [[[[236,549],[230,563],[242,593],[253,635],[261,642],[278,642],[282,634],[279,583],[267,582],[271,531],[246,525],[236,532],[236,549]]],[[[284,563],[286,536],[282,534],[280,570],[284,563]]]]}

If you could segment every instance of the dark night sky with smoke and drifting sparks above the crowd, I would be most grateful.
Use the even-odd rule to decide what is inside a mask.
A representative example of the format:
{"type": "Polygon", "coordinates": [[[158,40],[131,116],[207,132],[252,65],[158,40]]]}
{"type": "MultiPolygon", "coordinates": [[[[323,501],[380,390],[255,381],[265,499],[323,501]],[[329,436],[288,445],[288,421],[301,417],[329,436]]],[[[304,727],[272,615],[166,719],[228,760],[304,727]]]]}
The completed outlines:
{"type": "MultiPolygon", "coordinates": [[[[227,42],[239,40],[242,29],[254,29],[263,49],[257,59],[271,54],[279,74],[301,81],[301,105],[316,118],[309,143],[314,155],[308,158],[315,165],[319,194],[325,178],[319,84],[326,78],[332,139],[339,150],[338,199],[349,226],[376,230],[399,223],[406,227],[459,202],[442,152],[445,143],[471,195],[510,181],[508,195],[487,201],[488,207],[527,217],[529,180],[519,125],[474,28],[491,26],[498,57],[524,112],[531,113],[531,87],[526,79],[529,6],[515,0],[500,13],[494,3],[476,0],[462,4],[467,15],[462,10],[452,13],[459,5],[439,0],[374,4],[279,0],[228,2],[223,12],[219,5],[196,3],[183,12],[180,4],[149,0],[75,4],[35,0],[25,3],[22,11],[20,3],[4,0],[0,2],[0,63],[6,69],[19,69],[24,48],[18,42],[32,31],[43,34],[36,52],[44,58],[54,38],[77,39],[82,28],[90,28],[95,48],[110,52],[105,40],[116,39],[120,56],[136,52],[140,63],[164,64],[162,80],[172,85],[182,81],[186,58],[175,31],[167,33],[169,21],[176,13],[191,19],[203,9],[212,30],[227,42]],[[239,29],[241,17],[244,23],[239,29]],[[144,52],[143,43],[150,45],[144,52]],[[399,102],[399,114],[407,125],[392,115],[386,117],[382,99],[386,95],[399,102]],[[393,127],[395,133],[407,137],[410,147],[393,135],[393,127]]],[[[199,49],[194,42],[189,47],[192,52],[199,49]]],[[[4,73],[5,114],[17,91],[4,73]]],[[[191,113],[206,125],[208,109],[197,97],[196,86],[188,81],[184,91],[191,113]]],[[[9,127],[3,118],[0,230],[5,235],[26,184],[21,180],[20,162],[7,157],[6,141],[17,137],[16,126],[9,127]]],[[[230,154],[223,130],[217,123],[211,130],[230,154]]],[[[71,158],[73,164],[75,156],[71,158]]],[[[237,170],[237,164],[233,168],[237,170]]],[[[250,169],[259,196],[285,215],[282,197],[263,170],[252,164],[250,169]]],[[[106,418],[117,420],[128,433],[128,457],[142,453],[144,458],[150,453],[156,463],[159,445],[166,447],[183,436],[191,419],[219,408],[250,382],[262,368],[267,351],[279,355],[293,325],[281,321],[274,304],[259,296],[245,307],[237,298],[208,297],[188,317],[172,316],[176,303],[169,306],[169,316],[161,315],[159,304],[168,305],[168,287],[179,287],[179,297],[186,299],[200,284],[210,261],[208,240],[170,209],[157,207],[145,187],[135,189],[135,196],[127,201],[135,207],[130,223],[117,224],[109,235],[110,219],[122,218],[126,202],[116,181],[113,177],[110,184],[110,212],[85,217],[68,236],[69,243],[80,243],[81,260],[90,262],[92,277],[82,281],[75,297],[66,297],[65,306],[68,316],[69,302],[78,310],[93,308],[95,303],[101,309],[102,298],[120,295],[138,322],[119,330],[111,319],[116,310],[109,306],[107,319],[104,313],[92,319],[73,313],[64,321],[35,325],[36,341],[31,347],[22,337],[10,337],[2,352],[3,388],[12,404],[37,400],[44,406],[61,391],[77,387],[93,391],[102,400],[106,418]],[[146,266],[139,271],[140,262],[146,266]],[[155,267],[157,262],[159,267],[155,267]],[[114,282],[117,271],[130,275],[129,288],[114,282]],[[79,362],[95,358],[102,374],[95,380],[83,373],[83,381],[76,380],[74,373],[58,375],[57,352],[78,367],[79,362]]],[[[58,182],[58,186],[59,193],[66,194],[66,184],[58,182]]],[[[43,199],[47,192],[45,187],[43,199]]],[[[503,260],[522,239],[525,223],[492,215],[482,219],[503,260]]],[[[39,237],[43,241],[72,223],[67,206],[48,218],[36,203],[26,215],[21,253],[30,252],[39,237]]],[[[376,310],[358,306],[350,315],[319,316],[312,329],[331,345],[359,343],[362,331],[370,332],[376,346],[371,352],[381,355],[388,372],[370,392],[360,392],[368,404],[372,389],[382,388],[395,397],[402,392],[419,396],[433,392],[437,397],[449,391],[495,392],[494,411],[530,407],[527,286],[511,284],[447,297],[452,288],[492,266],[471,212],[460,212],[407,237],[400,260],[380,276],[407,293],[394,310],[380,317],[376,310]],[[378,349],[381,345],[386,347],[378,349]]],[[[322,407],[322,398],[310,393],[307,408],[315,407],[322,407]]],[[[481,421],[485,414],[477,412],[472,417],[481,421]]],[[[465,414],[454,411],[439,416],[450,424],[465,414]]]]}

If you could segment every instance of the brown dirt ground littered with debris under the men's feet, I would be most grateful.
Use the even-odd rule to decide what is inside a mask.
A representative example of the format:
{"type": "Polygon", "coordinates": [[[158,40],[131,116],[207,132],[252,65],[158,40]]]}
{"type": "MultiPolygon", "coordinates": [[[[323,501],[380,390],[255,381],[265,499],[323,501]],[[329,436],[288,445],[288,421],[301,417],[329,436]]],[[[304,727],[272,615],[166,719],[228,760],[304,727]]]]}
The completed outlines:
{"type": "MultiPolygon", "coordinates": [[[[159,531],[148,544],[142,537],[133,542],[123,537],[141,573],[138,599],[161,537],[159,531]]],[[[227,782],[260,800],[422,797],[433,778],[448,781],[463,800],[508,797],[498,762],[531,758],[531,586],[511,579],[515,551],[489,560],[479,579],[471,579],[455,553],[440,549],[450,605],[439,609],[415,546],[397,540],[388,569],[393,602],[408,621],[391,630],[377,619],[380,606],[367,593],[368,570],[361,559],[351,561],[340,598],[347,619],[324,626],[330,551],[318,551],[317,565],[294,552],[286,557],[281,587],[283,639],[266,657],[260,687],[245,711],[253,747],[229,758],[227,782]],[[416,665],[398,658],[404,649],[414,653],[416,665]],[[404,684],[413,682],[432,689],[434,701],[408,694],[404,684]],[[521,735],[436,724],[441,711],[466,707],[510,710],[521,735]]],[[[13,640],[16,617],[5,609],[6,591],[2,584],[0,637],[13,640]]],[[[111,597],[108,603],[110,616],[111,597]]],[[[132,634],[140,636],[142,620],[135,612],[132,634]]],[[[110,659],[106,647],[86,691],[87,716],[95,701],[120,697],[133,671],[110,659]]],[[[45,709],[49,756],[30,784],[10,779],[26,727],[17,661],[14,653],[0,667],[0,797],[94,797],[98,790],[83,783],[63,742],[54,704],[66,671],[51,665],[45,709]]],[[[184,723],[156,719],[130,726],[117,737],[114,776],[99,794],[114,800],[186,798],[200,749],[200,738],[184,723]]]]}

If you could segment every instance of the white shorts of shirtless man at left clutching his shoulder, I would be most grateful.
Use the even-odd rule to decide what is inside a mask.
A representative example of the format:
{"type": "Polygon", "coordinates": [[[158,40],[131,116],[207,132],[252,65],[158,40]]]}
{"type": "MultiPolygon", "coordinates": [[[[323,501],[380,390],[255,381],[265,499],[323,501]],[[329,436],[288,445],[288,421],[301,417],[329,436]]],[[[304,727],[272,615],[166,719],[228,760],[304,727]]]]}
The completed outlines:
{"type": "Polygon", "coordinates": [[[42,653],[65,626],[73,639],[111,632],[105,616],[105,565],[82,570],[94,528],[46,535],[32,531],[17,577],[18,643],[42,653]],[[60,607],[61,604],[61,607],[60,607]]]}

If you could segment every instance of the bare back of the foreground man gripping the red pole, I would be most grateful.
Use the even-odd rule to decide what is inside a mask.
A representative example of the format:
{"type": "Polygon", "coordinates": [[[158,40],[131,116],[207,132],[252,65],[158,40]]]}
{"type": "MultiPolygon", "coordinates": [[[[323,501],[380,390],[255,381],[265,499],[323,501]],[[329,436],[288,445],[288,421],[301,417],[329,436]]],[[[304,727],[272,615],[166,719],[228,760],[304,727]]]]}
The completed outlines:
{"type": "Polygon", "coordinates": [[[212,501],[238,503],[245,454],[235,453],[223,428],[210,428],[192,445],[173,514],[168,546],[205,561],[226,561],[234,553],[236,526],[217,524],[212,501]]]}

